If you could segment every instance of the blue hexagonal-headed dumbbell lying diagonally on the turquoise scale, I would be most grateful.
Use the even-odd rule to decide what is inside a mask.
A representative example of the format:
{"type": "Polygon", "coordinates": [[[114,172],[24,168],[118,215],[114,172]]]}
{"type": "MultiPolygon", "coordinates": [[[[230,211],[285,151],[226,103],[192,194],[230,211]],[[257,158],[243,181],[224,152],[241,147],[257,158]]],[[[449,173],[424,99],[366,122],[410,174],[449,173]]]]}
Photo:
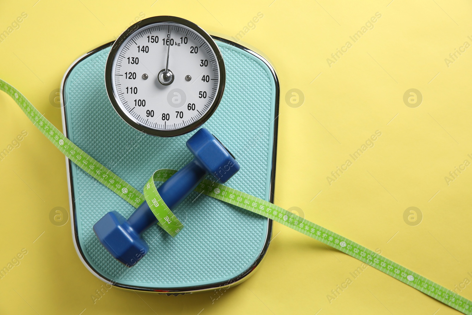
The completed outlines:
{"type": "MultiPolygon", "coordinates": [[[[170,210],[184,200],[207,174],[223,184],[239,170],[233,154],[205,128],[191,136],[186,145],[194,159],[157,189],[170,210]]],[[[127,221],[118,212],[111,211],[93,225],[93,231],[113,257],[131,267],[149,250],[141,233],[156,223],[156,217],[144,201],[127,221]]]]}

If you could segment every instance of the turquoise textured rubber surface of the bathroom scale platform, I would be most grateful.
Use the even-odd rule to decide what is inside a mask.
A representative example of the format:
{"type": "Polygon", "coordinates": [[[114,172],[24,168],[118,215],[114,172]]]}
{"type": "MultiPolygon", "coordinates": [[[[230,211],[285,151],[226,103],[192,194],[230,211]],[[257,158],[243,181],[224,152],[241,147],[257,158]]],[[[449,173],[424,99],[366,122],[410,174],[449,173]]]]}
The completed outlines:
{"type": "MultiPolygon", "coordinates": [[[[227,185],[269,200],[274,119],[278,86],[257,56],[217,41],[227,79],[217,111],[202,126],[236,156],[241,170],[227,185]]],[[[171,138],[145,135],[114,111],[105,88],[110,46],[77,62],[64,81],[67,136],[85,152],[142,191],[154,170],[180,169],[193,158],[185,141],[194,132],[171,138]]],[[[268,219],[192,193],[175,213],[185,228],[172,238],[157,225],[143,234],[149,253],[126,268],[101,246],[93,224],[116,210],[128,217],[135,209],[71,163],[73,224],[79,255],[98,276],[118,285],[143,289],[195,288],[227,282],[251,269],[267,247],[268,219]]]]}

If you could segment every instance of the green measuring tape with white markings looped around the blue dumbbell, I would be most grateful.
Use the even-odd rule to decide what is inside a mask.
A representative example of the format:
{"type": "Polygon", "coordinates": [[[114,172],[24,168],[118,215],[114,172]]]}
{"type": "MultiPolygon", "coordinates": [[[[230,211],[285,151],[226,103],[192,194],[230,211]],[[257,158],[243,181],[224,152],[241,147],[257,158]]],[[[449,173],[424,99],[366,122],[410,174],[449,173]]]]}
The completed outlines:
{"type": "MultiPolygon", "coordinates": [[[[166,181],[177,170],[156,170],[143,188],[144,195],[137,189],[120,179],[116,174],[105,166],[94,160],[87,153],[74,145],[56,127],[54,127],[34,106],[13,86],[0,79],[0,90],[6,92],[26,116],[33,122],[48,139],[64,153],[68,159],[76,163],[80,168],[89,173],[93,178],[110,188],[118,196],[137,208],[144,200],[149,204],[152,213],[159,220],[159,225],[172,236],[182,230],[183,225],[169,210],[160,198],[154,181],[166,181]]],[[[390,259],[371,251],[341,235],[327,230],[311,221],[295,215],[275,204],[271,204],[260,198],[248,195],[236,189],[221,185],[217,182],[204,179],[195,188],[196,192],[219,199],[228,204],[260,214],[271,220],[277,221],[293,230],[299,231],[311,238],[317,239],[323,244],[329,245],[337,250],[351,255],[365,264],[385,272],[396,280],[402,281],[409,286],[429,295],[438,301],[455,308],[456,310],[472,315],[472,301],[444,288],[443,286],[422,277],[390,259]]]]}

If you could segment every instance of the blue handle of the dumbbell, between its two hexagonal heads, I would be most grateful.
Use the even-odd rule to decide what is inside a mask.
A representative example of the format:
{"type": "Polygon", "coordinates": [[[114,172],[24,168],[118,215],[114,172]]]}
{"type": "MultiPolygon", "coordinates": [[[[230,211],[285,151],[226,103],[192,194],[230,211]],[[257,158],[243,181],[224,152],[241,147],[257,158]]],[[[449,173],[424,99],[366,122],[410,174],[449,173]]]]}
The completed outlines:
{"type": "MultiPolygon", "coordinates": [[[[196,158],[166,180],[157,191],[165,204],[172,210],[180,204],[205,178],[208,173],[196,158]]],[[[128,219],[129,225],[141,234],[152,227],[157,219],[144,201],[128,219]]]]}

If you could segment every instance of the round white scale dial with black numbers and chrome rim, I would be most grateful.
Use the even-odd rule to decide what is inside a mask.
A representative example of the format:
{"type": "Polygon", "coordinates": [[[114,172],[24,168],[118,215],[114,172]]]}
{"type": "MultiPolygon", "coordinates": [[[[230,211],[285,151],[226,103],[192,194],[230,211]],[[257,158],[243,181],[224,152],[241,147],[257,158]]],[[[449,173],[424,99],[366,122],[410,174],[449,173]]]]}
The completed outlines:
{"type": "Polygon", "coordinates": [[[225,68],[213,39],[178,17],[150,17],[126,30],[110,50],[108,95],[129,125],[154,136],[198,128],[216,110],[225,68]]]}

